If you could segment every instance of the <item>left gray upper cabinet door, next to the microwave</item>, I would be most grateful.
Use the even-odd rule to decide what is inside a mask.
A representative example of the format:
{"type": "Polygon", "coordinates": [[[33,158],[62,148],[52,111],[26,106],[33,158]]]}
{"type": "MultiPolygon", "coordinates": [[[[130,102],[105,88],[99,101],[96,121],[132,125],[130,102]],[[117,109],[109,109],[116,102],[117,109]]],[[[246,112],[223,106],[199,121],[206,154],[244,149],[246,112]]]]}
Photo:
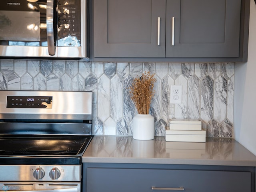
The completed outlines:
{"type": "Polygon", "coordinates": [[[94,57],[164,57],[166,0],[94,0],[93,6],[94,57]]]}

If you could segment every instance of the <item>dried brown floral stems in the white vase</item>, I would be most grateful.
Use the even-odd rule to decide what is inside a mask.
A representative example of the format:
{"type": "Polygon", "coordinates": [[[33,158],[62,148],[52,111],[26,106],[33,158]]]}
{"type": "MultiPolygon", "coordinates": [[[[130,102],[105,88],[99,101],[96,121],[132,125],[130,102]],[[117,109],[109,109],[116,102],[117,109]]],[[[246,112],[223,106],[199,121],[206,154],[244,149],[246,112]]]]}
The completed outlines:
{"type": "Polygon", "coordinates": [[[149,114],[151,99],[154,96],[154,74],[145,72],[140,78],[135,78],[130,86],[130,95],[138,114],[149,114]]]}

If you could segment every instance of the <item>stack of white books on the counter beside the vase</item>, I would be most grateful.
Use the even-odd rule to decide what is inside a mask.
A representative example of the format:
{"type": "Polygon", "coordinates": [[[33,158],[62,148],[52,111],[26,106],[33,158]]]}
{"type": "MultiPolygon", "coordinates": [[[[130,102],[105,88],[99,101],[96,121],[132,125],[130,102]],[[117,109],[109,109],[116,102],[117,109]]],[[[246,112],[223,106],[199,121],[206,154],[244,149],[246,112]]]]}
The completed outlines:
{"type": "Polygon", "coordinates": [[[205,142],[202,122],[193,119],[172,119],[166,127],[165,140],[170,142],[205,142]]]}

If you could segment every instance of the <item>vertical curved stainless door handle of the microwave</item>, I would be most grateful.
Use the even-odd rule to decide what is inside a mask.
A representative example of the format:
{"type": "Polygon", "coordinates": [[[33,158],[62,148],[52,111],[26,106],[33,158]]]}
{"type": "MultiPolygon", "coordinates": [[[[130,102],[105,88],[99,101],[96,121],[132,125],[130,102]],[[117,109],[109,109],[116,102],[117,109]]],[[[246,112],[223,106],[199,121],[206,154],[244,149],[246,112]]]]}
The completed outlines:
{"type": "Polygon", "coordinates": [[[53,1],[47,0],[46,8],[46,34],[49,55],[55,55],[54,26],[53,26],[53,1]]]}

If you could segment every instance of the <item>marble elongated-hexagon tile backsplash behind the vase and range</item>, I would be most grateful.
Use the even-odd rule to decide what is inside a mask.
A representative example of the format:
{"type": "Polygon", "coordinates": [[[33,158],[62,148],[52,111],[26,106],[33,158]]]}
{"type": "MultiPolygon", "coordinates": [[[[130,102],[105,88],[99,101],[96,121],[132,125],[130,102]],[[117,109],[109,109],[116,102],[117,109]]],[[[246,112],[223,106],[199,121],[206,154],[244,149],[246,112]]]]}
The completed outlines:
{"type": "Polygon", "coordinates": [[[0,60],[0,90],[93,91],[93,134],[132,135],[137,112],[128,87],[145,71],[157,79],[150,108],[156,136],[171,118],[189,118],[201,120],[208,137],[232,137],[234,63],[0,60]],[[170,104],[173,84],[182,85],[182,104],[170,104]]]}

